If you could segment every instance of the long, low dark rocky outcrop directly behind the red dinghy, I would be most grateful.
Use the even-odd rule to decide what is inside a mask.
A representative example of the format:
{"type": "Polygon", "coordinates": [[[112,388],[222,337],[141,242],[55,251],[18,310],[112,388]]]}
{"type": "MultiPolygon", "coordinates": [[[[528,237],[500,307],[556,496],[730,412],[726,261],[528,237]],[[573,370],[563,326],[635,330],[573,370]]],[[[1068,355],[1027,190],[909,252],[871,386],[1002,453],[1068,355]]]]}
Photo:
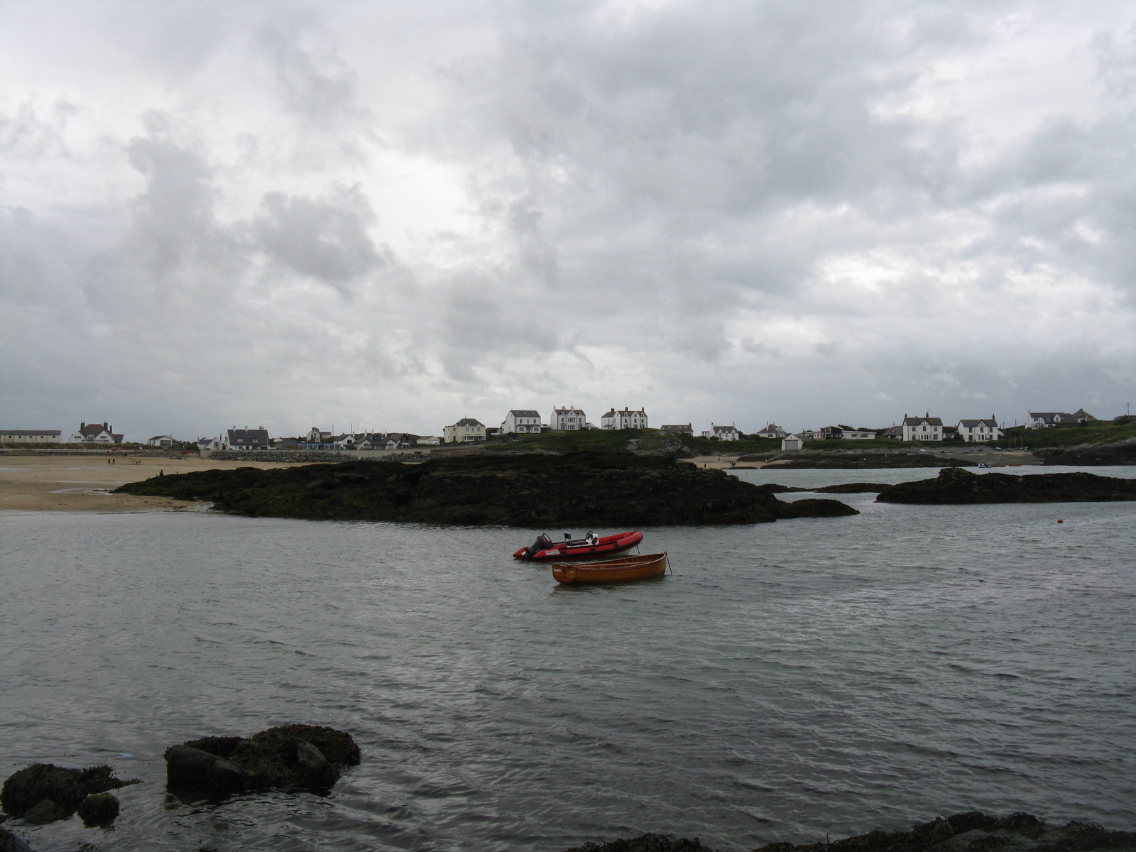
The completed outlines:
{"type": "Polygon", "coordinates": [[[630,454],[467,456],[154,477],[130,494],[210,501],[234,515],[523,527],[757,524],[855,513],[786,503],[721,470],[630,454]]]}

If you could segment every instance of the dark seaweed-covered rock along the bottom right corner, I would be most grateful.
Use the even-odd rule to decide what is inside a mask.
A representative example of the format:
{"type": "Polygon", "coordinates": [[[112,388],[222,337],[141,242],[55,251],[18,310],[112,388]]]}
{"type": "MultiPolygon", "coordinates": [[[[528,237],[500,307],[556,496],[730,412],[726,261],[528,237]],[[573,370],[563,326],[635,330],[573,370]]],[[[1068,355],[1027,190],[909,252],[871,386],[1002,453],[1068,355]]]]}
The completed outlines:
{"type": "Polygon", "coordinates": [[[1093,822],[1049,826],[1029,813],[991,817],[971,811],[939,817],[910,832],[869,832],[832,843],[770,843],[755,852],[1091,852],[1136,849],[1136,833],[1093,822]]]}

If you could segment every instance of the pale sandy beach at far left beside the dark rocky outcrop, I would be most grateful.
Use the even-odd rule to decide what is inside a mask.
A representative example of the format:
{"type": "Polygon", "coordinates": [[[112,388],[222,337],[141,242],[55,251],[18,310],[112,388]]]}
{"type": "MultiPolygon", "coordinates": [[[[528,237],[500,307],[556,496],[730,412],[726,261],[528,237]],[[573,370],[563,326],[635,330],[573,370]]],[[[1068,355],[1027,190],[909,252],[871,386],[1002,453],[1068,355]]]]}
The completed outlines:
{"type": "Polygon", "coordinates": [[[119,485],[166,474],[237,467],[282,467],[278,462],[212,459],[118,458],[105,456],[0,456],[0,511],[136,512],[182,509],[197,503],[168,498],[109,493],[119,485]]]}

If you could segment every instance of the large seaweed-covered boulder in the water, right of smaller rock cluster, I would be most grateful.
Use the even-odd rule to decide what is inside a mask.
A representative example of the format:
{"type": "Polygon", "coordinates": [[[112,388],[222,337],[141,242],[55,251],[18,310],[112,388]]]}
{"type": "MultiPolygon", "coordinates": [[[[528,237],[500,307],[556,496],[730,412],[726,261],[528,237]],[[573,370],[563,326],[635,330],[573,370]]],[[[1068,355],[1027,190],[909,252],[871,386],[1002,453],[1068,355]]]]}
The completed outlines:
{"type": "Polygon", "coordinates": [[[284,725],[240,736],[207,736],[166,749],[170,788],[212,795],[244,791],[331,790],[358,766],[350,734],[318,725],[284,725]]]}

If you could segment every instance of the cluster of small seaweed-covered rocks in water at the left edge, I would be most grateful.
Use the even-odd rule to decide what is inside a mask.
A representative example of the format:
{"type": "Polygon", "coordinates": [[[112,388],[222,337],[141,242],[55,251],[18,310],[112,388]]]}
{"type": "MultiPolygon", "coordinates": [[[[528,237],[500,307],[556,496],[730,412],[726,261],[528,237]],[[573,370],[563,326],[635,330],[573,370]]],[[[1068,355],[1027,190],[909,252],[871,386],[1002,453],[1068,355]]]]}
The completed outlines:
{"type": "MultiPolygon", "coordinates": [[[[14,772],[3,783],[3,787],[0,788],[0,805],[10,817],[22,818],[33,825],[43,825],[67,819],[83,808],[89,797],[97,797],[109,790],[139,783],[136,778],[116,778],[109,766],[67,769],[53,763],[33,763],[14,772]]],[[[115,801],[115,816],[118,816],[118,800],[114,796],[110,799],[115,801]]],[[[103,800],[87,808],[92,809],[90,811],[92,813],[109,812],[103,800]]],[[[110,820],[112,819],[114,817],[110,817],[110,820]]]]}

